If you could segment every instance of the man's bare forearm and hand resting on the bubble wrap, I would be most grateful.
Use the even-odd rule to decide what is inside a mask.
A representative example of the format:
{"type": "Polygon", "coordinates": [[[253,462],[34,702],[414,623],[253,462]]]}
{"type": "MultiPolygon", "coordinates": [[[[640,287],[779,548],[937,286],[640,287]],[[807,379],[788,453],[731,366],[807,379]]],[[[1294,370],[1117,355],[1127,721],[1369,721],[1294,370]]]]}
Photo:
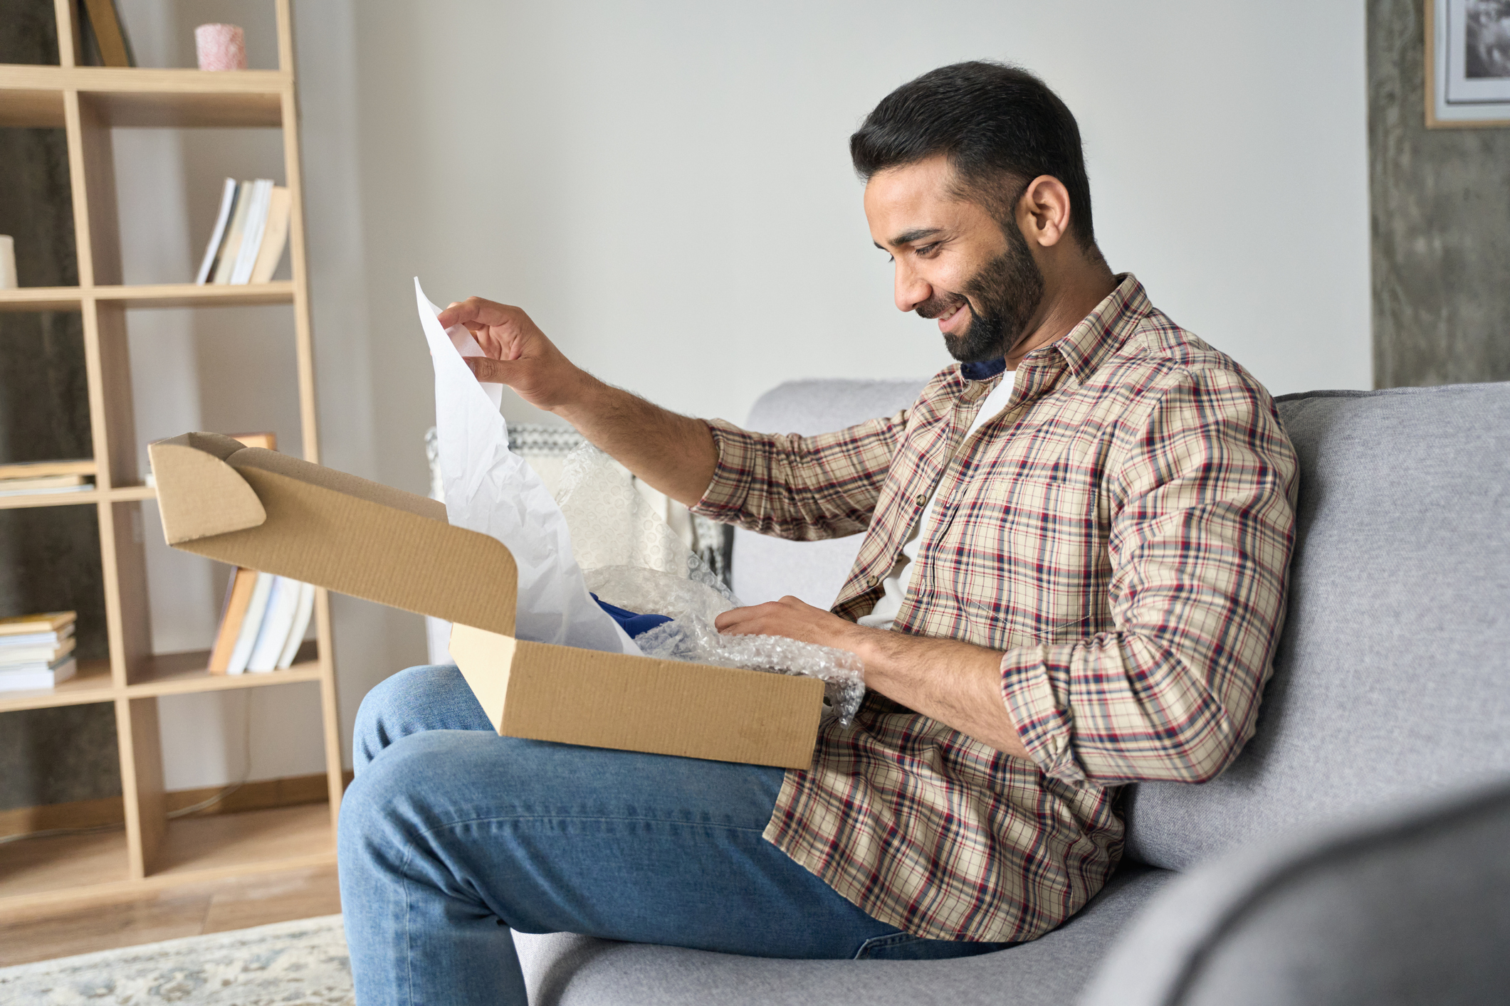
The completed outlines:
{"type": "Polygon", "coordinates": [[[782,597],[725,611],[713,621],[729,635],[775,635],[849,650],[865,664],[865,686],[924,716],[1031,760],[1001,697],[1001,653],[956,639],[867,629],[782,597]]]}

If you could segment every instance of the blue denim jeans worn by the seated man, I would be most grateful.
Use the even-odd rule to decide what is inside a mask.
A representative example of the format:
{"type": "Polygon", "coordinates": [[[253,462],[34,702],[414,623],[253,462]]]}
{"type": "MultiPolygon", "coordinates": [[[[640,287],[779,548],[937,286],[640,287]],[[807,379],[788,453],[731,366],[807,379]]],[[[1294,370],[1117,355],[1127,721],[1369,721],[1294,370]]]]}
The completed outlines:
{"type": "Polygon", "coordinates": [[[770,958],[954,958],[766,842],[782,771],[500,738],[455,667],[362,701],[341,804],[361,1006],[525,1001],[510,929],[770,958]]]}

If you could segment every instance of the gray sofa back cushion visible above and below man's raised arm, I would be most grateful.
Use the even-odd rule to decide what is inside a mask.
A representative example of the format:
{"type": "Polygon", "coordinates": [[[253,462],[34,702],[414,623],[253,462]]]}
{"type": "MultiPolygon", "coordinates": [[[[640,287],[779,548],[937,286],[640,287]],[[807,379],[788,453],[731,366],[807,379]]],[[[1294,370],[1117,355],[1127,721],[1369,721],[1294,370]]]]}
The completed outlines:
{"type": "MultiPolygon", "coordinates": [[[[761,433],[832,433],[908,409],[924,385],[927,379],[788,380],[755,400],[744,425],[761,433]]],[[[827,608],[838,597],[864,537],[784,541],[735,528],[734,593],[746,605],[791,594],[827,608]]]]}

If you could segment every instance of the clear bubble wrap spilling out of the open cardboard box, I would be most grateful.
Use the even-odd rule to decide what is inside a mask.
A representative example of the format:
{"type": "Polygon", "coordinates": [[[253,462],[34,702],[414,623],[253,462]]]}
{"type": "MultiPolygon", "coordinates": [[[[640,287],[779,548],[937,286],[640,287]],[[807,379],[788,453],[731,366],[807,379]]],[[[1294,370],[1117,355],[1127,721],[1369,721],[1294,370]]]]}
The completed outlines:
{"type": "Polygon", "coordinates": [[[719,614],[738,606],[723,584],[701,584],[634,566],[589,570],[586,581],[587,590],[610,605],[672,617],[634,636],[645,656],[817,677],[824,683],[826,715],[846,725],[865,698],[864,667],[847,650],[782,636],[723,635],[714,629],[719,614]]]}

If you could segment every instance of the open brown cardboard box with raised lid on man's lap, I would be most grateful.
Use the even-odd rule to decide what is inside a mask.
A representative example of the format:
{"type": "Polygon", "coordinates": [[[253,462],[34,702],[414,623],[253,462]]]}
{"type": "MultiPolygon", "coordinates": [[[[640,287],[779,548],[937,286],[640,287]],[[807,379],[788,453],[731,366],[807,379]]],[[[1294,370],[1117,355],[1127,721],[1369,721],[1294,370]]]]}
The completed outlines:
{"type": "Polygon", "coordinates": [[[501,735],[812,763],[817,679],[515,639],[513,557],[442,504],[214,433],[148,449],[168,544],[455,623],[451,656],[501,735]]]}

